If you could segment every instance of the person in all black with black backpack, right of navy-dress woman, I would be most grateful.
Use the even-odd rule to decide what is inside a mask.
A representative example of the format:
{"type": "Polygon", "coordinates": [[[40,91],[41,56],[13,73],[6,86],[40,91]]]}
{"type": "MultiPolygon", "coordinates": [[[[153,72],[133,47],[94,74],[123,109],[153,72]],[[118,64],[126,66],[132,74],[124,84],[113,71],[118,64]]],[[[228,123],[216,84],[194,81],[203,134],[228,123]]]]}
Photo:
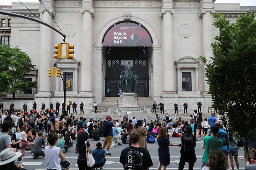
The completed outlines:
{"type": "Polygon", "coordinates": [[[196,162],[196,137],[192,134],[192,127],[187,126],[185,133],[181,136],[181,149],[180,149],[180,163],[179,170],[183,170],[185,162],[188,162],[188,170],[193,170],[194,163],[196,162]]]}

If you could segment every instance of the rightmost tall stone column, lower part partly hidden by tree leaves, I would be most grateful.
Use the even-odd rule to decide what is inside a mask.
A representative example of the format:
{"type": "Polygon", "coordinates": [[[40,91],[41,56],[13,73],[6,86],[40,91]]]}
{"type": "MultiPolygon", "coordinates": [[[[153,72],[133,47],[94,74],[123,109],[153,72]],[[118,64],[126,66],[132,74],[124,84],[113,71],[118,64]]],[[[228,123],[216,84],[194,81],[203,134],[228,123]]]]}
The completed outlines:
{"type": "MultiPolygon", "coordinates": [[[[214,9],[203,9],[198,15],[203,18],[203,55],[209,61],[212,54],[212,13],[214,9]]],[[[205,75],[205,65],[204,65],[204,75],[205,75]]],[[[204,94],[207,94],[209,91],[209,85],[206,83],[207,78],[204,76],[204,94]]]]}

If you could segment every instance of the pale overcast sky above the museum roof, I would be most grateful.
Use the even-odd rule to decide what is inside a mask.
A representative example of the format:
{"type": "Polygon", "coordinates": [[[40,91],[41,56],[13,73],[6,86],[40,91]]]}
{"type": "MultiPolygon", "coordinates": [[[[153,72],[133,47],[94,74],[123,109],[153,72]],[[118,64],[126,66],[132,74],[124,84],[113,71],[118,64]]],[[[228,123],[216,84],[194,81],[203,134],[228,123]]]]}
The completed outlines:
{"type": "MultiPolygon", "coordinates": [[[[0,0],[0,5],[12,5],[17,0],[0,0]]],[[[38,0],[20,0],[20,2],[39,2],[38,0]]],[[[216,0],[214,3],[240,3],[240,6],[256,6],[256,0],[216,0]]]]}

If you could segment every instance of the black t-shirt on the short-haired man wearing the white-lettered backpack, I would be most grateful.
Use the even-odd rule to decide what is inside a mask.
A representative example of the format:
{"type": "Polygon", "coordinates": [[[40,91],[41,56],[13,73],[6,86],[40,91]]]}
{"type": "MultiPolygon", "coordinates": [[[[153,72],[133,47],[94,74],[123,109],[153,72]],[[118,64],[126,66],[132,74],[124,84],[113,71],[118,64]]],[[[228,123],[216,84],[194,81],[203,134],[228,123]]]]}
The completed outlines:
{"type": "Polygon", "coordinates": [[[151,160],[148,150],[146,148],[142,148],[142,147],[136,148],[133,146],[129,146],[127,148],[124,148],[123,151],[121,152],[119,162],[121,162],[122,164],[125,165],[125,158],[126,158],[127,153],[130,151],[130,149],[135,149],[135,150],[138,150],[140,153],[142,153],[141,156],[142,156],[144,169],[146,169],[147,167],[153,166],[153,162],[151,160]]]}

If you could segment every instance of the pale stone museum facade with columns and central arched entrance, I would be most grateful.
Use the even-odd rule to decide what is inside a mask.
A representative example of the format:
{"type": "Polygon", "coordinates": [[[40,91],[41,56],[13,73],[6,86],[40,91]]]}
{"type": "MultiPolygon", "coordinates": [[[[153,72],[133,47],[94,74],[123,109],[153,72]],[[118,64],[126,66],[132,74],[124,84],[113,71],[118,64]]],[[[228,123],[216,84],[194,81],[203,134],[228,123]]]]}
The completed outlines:
{"type": "MultiPolygon", "coordinates": [[[[83,101],[89,110],[94,100],[100,105],[104,97],[117,96],[119,76],[130,62],[138,76],[138,96],[152,97],[157,103],[162,100],[166,109],[173,108],[175,101],[182,107],[184,100],[195,108],[198,100],[204,109],[211,107],[204,65],[198,57],[212,56],[210,44],[218,34],[212,14],[222,13],[234,22],[242,14],[255,12],[240,4],[213,1],[42,0],[66,34],[66,42],[74,45],[74,59],[53,58],[54,45],[63,39],[60,34],[39,23],[11,17],[12,47],[25,51],[36,65],[28,78],[37,82],[37,88],[17,92],[17,100],[35,100],[38,106],[62,103],[61,78],[48,77],[48,69],[56,63],[61,73],[70,74],[67,100],[83,101]]],[[[24,5],[58,29],[42,4],[24,5]]],[[[36,18],[20,3],[12,3],[12,8],[4,11],[36,18]]],[[[2,98],[9,107],[11,96],[4,93],[2,98]]]]}

